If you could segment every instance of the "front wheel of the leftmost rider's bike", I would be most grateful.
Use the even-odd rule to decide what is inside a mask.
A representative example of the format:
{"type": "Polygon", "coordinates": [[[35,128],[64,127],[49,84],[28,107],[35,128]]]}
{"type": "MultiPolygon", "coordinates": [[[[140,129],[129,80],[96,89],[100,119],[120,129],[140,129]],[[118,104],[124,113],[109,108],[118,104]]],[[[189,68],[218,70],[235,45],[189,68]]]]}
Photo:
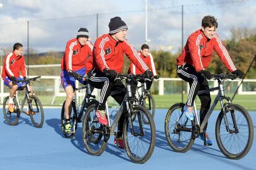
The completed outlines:
{"type": "Polygon", "coordinates": [[[43,114],[43,106],[36,96],[30,97],[31,102],[29,106],[29,113],[30,113],[30,118],[32,120],[32,123],[34,124],[35,127],[42,127],[43,126],[43,121],[44,121],[44,114],[43,114]]]}

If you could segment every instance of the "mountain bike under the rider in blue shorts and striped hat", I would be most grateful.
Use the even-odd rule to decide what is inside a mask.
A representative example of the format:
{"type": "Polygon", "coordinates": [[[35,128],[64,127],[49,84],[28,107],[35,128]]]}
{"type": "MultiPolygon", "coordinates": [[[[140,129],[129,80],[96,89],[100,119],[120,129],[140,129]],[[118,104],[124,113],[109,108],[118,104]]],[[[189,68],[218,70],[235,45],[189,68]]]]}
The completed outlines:
{"type": "MultiPolygon", "coordinates": [[[[82,77],[82,76],[80,76],[82,77]]],[[[85,77],[87,78],[87,77],[85,77]]],[[[66,126],[66,115],[65,115],[65,103],[62,104],[61,108],[61,130],[66,138],[72,138],[75,135],[75,132],[77,130],[77,123],[81,123],[83,113],[87,110],[87,108],[92,104],[96,103],[95,95],[92,95],[92,87],[87,82],[85,86],[74,88],[74,97],[69,107],[69,118],[70,118],[70,125],[71,125],[71,132],[65,132],[65,126],[66,126]],[[83,99],[83,102],[81,105],[79,105],[77,101],[77,92],[86,89],[85,97],[83,99]]]]}

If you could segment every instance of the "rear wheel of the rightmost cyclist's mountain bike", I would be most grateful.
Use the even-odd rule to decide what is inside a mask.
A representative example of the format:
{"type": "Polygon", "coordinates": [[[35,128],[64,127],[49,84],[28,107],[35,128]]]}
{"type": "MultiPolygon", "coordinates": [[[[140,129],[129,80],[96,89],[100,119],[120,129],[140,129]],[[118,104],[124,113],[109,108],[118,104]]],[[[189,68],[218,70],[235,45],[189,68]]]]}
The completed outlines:
{"type": "Polygon", "coordinates": [[[192,132],[184,131],[184,129],[192,129],[192,121],[183,114],[184,106],[184,103],[176,103],[171,106],[164,123],[168,144],[176,152],[187,152],[195,142],[192,132]]]}

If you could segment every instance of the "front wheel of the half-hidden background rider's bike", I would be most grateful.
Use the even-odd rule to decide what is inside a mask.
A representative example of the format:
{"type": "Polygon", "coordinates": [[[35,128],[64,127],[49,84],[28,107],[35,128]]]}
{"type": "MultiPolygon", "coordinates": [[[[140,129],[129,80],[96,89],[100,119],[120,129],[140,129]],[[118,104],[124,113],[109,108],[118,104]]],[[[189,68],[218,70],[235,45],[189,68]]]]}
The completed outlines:
{"type": "MultiPolygon", "coordinates": [[[[150,112],[150,115],[152,118],[155,116],[155,100],[153,98],[153,95],[151,94],[145,94],[140,98],[140,104],[143,105],[143,107],[147,108],[150,112]]],[[[142,117],[143,121],[145,123],[148,123],[147,118],[142,117]]]]}

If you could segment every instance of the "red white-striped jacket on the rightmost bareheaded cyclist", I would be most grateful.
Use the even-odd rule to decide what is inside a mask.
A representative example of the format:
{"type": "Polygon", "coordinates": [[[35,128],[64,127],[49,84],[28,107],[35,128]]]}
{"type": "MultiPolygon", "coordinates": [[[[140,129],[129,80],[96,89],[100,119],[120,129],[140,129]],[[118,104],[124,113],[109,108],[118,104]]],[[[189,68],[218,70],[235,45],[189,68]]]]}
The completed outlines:
{"type": "Polygon", "coordinates": [[[205,70],[211,62],[213,50],[216,51],[230,72],[236,70],[218,34],[215,34],[212,39],[208,39],[203,34],[202,30],[197,30],[190,34],[182,54],[177,58],[177,65],[182,65],[184,62],[187,62],[192,65],[197,72],[205,70]]]}

